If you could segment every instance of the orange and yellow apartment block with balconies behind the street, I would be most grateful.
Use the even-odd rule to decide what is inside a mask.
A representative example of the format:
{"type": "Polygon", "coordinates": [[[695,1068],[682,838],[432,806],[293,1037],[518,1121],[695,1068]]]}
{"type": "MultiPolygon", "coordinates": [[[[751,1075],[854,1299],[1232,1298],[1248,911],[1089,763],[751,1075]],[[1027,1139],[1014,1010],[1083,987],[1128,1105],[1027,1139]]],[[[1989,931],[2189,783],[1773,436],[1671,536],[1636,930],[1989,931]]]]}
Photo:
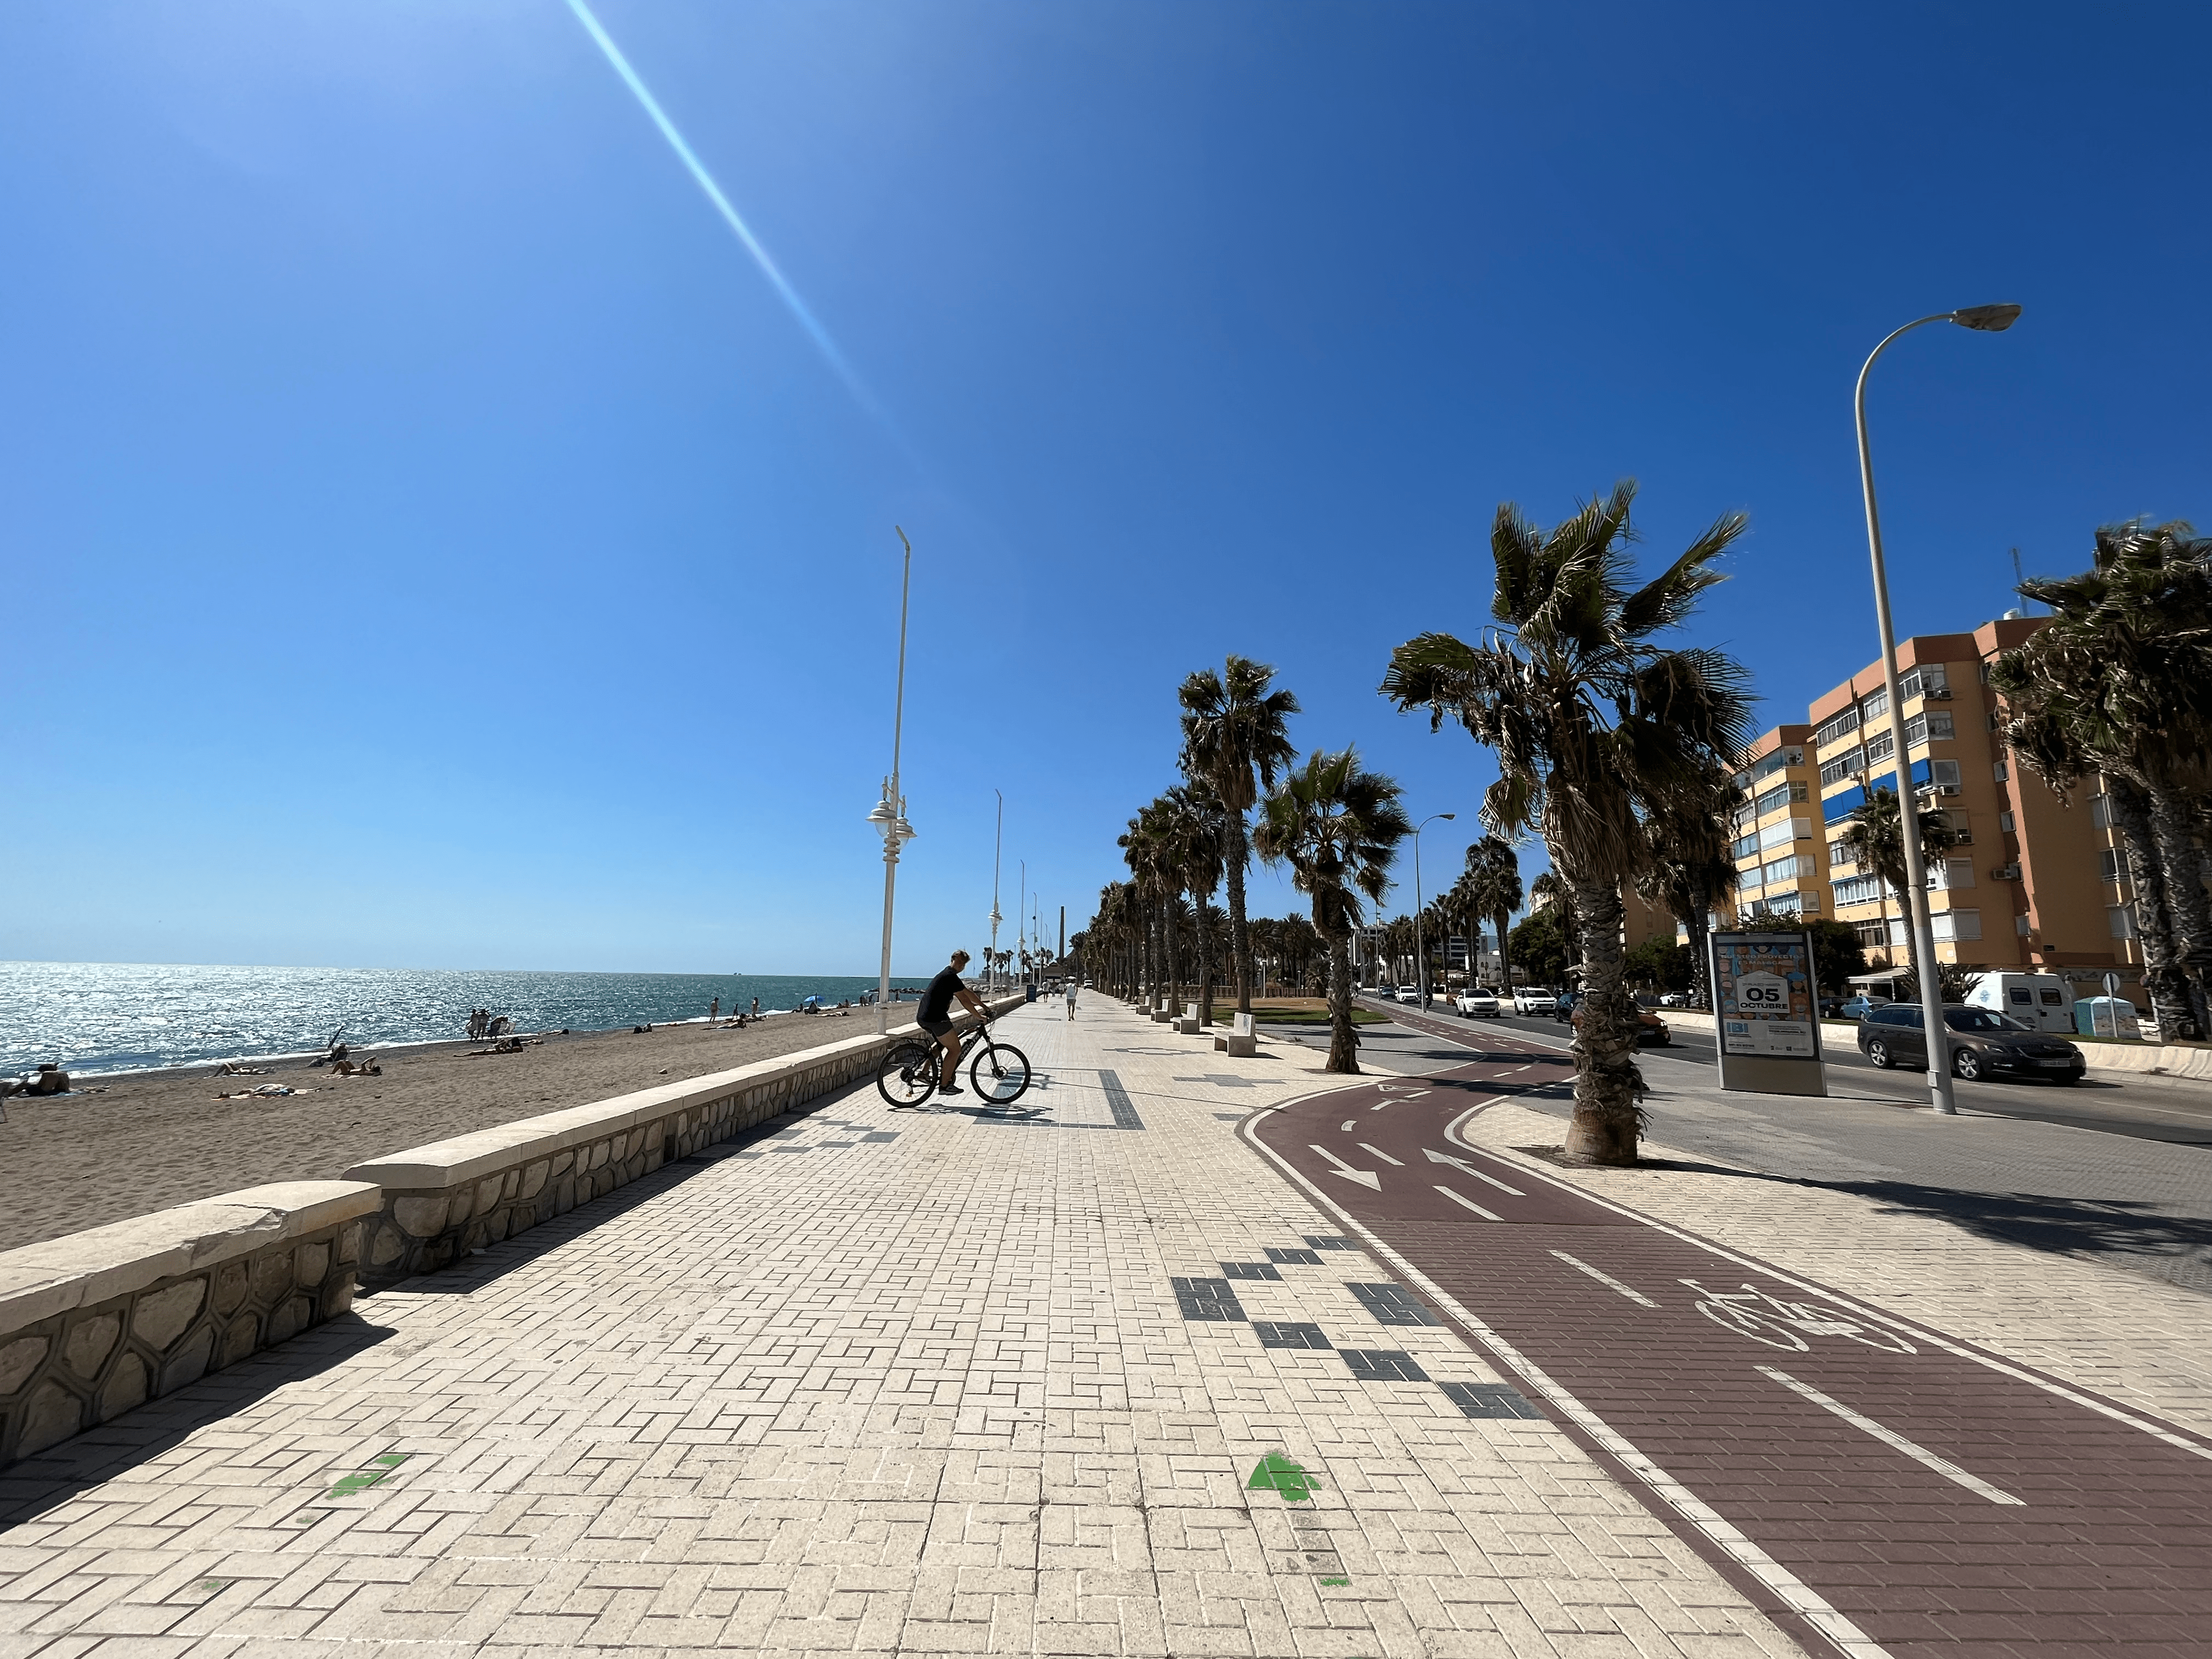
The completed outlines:
{"type": "MultiPolygon", "coordinates": [[[[2042,626],[2004,617],[1973,633],[1898,646],[1907,776],[1960,845],[1929,860],[1936,956],[1966,967],[2141,978],[2126,860],[2095,787],[2062,799],[2022,772],[1997,723],[1989,661],[2042,626]]],[[[1898,785],[1880,664],[1816,697],[1805,726],[1776,726],[1741,759],[1732,914],[1829,916],[1858,929],[1869,960],[1905,964],[1907,911],[1840,836],[1871,787],[1898,785]]],[[[2130,987],[2139,989],[2139,987],[2130,987]]]]}

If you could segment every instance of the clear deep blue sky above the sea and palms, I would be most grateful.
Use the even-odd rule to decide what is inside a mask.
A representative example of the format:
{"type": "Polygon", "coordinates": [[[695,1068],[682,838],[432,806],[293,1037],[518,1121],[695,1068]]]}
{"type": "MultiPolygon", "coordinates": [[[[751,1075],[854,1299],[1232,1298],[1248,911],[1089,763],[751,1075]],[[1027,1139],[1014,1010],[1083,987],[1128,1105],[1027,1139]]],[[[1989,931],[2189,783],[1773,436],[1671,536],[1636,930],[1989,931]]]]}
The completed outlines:
{"type": "Polygon", "coordinates": [[[0,956],[872,971],[894,522],[900,971],[993,787],[1073,927],[1228,650],[1433,885],[1491,768],[1374,688],[1498,502],[1745,509],[1690,637],[1801,717],[1953,305],[2028,310],[1878,372],[1902,628],[2212,520],[2201,7],[597,15],[876,411],[562,0],[0,13],[0,956]]]}

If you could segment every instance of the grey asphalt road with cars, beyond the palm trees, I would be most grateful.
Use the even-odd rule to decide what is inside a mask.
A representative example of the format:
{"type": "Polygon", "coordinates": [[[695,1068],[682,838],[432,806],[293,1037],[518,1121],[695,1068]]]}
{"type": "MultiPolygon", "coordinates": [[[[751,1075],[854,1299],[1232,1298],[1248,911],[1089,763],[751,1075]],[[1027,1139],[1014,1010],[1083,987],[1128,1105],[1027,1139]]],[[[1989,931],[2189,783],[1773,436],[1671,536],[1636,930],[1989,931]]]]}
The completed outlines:
{"type": "MultiPolygon", "coordinates": [[[[1391,1024],[1360,1026],[1360,1062],[1400,1075],[1425,1075],[1467,1064],[1462,1044],[1480,1051],[1495,1040],[1486,1033],[1498,1037],[1511,1033],[1513,1042],[1533,1042],[1562,1053],[1568,1046],[1568,1029],[1555,1020],[1460,1020],[1455,1013],[1444,1013],[1444,1004],[1438,1004],[1429,1015],[1385,1002],[1369,1006],[1376,1013],[1389,1011],[1391,1024]],[[1438,1042],[1438,1037],[1444,1040],[1438,1042]]],[[[1661,1013],[1661,1018],[1666,1015],[1661,1013]]],[[[1267,1026],[1267,1035],[1327,1048],[1325,1026],[1267,1026]]],[[[1898,1106],[1927,1102],[1922,1073],[1876,1071],[1843,1026],[1823,1026],[1820,1037],[1827,1048],[1832,1088],[1847,1086],[1856,1095],[1893,1099],[1898,1106]]],[[[1703,1031],[1677,1031],[1672,1046],[1646,1048],[1641,1060],[1650,1068],[1652,1082],[1663,1082],[1663,1071],[1670,1066],[1694,1066],[1703,1073],[1701,1082],[1712,1082],[1717,1071],[1714,1042],[1703,1031]]],[[[2088,1077],[2079,1084],[1953,1082],[1960,1106],[1969,1110],[2212,1148],[2212,1086],[2161,1079],[2108,1082],[2104,1077],[2088,1077]]]]}

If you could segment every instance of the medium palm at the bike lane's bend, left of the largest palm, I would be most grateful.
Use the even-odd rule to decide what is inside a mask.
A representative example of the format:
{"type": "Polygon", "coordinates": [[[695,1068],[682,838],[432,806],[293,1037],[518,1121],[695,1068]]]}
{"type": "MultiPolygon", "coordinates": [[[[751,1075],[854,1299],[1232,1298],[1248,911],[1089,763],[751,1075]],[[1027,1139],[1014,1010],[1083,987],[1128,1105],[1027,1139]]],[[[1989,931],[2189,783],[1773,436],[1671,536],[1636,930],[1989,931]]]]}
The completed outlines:
{"type": "Polygon", "coordinates": [[[1292,885],[1314,896],[1314,931],[1329,947],[1329,1057],[1323,1071],[1358,1075],[1352,1029],[1352,929],[1360,896],[1380,905],[1389,863],[1413,821],[1398,785],[1360,768],[1358,750],[1310,754],[1261,807],[1254,845],[1267,863],[1287,860],[1292,885]]]}

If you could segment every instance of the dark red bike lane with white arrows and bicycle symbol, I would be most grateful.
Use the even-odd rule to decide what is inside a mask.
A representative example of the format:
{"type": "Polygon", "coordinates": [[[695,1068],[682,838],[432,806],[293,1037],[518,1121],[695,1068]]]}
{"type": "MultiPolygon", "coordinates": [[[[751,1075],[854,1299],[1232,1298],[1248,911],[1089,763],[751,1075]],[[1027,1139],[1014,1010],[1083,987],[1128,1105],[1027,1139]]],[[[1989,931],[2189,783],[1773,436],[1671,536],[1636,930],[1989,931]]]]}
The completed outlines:
{"type": "Polygon", "coordinates": [[[1248,1135],[1801,1641],[2212,1655],[2203,1438],[1451,1139],[1571,1075],[1484,1046],[1248,1135]]]}

